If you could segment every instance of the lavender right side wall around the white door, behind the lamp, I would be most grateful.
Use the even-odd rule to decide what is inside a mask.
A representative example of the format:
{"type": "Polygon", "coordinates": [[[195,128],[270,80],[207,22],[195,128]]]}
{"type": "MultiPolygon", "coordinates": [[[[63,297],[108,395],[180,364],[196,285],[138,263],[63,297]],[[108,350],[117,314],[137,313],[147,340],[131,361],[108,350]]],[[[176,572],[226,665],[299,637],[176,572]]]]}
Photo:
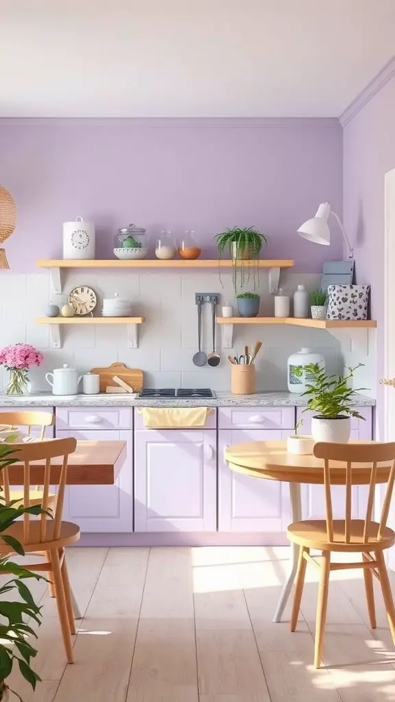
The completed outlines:
{"type": "MultiPolygon", "coordinates": [[[[377,377],[384,373],[384,174],[395,168],[395,64],[344,124],[344,226],[354,241],[358,283],[371,286],[377,377]],[[379,88],[377,90],[377,87],[379,88]]],[[[380,77],[379,77],[380,80],[380,77]]],[[[374,86],[372,86],[373,88],[374,86]]],[[[358,105],[357,105],[358,107],[358,105]]],[[[377,388],[379,430],[383,390],[377,388]]]]}

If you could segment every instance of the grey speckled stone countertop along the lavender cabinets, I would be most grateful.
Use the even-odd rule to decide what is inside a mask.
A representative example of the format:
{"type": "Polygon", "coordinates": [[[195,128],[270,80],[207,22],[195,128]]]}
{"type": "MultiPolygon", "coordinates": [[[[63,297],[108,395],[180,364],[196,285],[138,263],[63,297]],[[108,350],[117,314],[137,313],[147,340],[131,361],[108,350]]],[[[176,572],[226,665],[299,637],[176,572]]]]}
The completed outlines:
{"type": "MultiPolygon", "coordinates": [[[[231,395],[229,392],[216,392],[211,399],[137,399],[137,395],[48,395],[38,392],[33,395],[15,397],[0,395],[0,407],[257,407],[283,406],[304,407],[307,398],[285,390],[277,392],[256,392],[254,395],[231,395]]],[[[376,404],[375,399],[357,395],[354,406],[368,407],[376,404]]]]}

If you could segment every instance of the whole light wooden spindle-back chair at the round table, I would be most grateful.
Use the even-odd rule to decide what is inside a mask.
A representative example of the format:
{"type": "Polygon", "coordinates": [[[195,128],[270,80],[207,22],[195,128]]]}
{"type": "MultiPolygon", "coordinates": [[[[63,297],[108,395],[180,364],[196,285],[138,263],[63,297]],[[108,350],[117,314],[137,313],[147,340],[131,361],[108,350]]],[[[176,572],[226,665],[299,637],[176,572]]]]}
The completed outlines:
{"type": "MultiPolygon", "coordinates": [[[[287,529],[290,541],[301,546],[299,564],[294,591],[294,604],[291,616],[291,631],[297,627],[300,602],[304,585],[307,562],[313,563],[320,571],[320,581],[317,601],[316,639],[314,665],[320,667],[325,632],[325,619],[328,607],[328,587],[330,571],[342,569],[363,568],[365,579],[366,600],[370,625],[376,628],[375,598],[373,592],[373,576],[380,581],[385,609],[389,620],[392,639],[395,644],[395,607],[391,593],[391,585],[383,551],[395,543],[395,533],[387,527],[389,505],[395,480],[395,443],[391,444],[324,444],[314,446],[314,456],[324,459],[323,477],[325,485],[326,519],[307,519],[294,522],[287,529]],[[330,461],[346,463],[344,468],[331,466],[330,461]],[[371,464],[367,471],[366,483],[369,484],[368,502],[365,519],[351,519],[351,486],[353,485],[353,465],[355,463],[371,464]],[[380,477],[377,475],[377,464],[380,465],[380,477]],[[382,464],[388,469],[382,475],[382,464]],[[382,505],[380,522],[374,522],[373,505],[375,502],[375,486],[377,482],[387,481],[387,489],[382,505]],[[332,484],[345,486],[345,519],[333,519],[332,516],[332,484]],[[322,561],[318,562],[310,555],[310,549],[322,552],[322,561]],[[361,553],[361,562],[331,563],[331,553],[361,553]]],[[[354,465],[354,470],[356,470],[354,465]]],[[[361,465],[358,466],[358,483],[361,484],[361,465]]]]}

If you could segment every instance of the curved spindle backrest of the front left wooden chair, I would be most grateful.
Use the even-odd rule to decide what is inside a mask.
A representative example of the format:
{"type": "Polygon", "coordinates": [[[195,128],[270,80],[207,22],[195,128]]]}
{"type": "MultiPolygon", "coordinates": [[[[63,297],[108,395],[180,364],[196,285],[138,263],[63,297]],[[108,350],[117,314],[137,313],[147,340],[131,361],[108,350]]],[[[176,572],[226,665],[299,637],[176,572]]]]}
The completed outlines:
{"type": "MultiPolygon", "coordinates": [[[[47,519],[53,517],[55,526],[53,538],[58,538],[60,534],[60,525],[62,522],[63,502],[65,499],[65,484],[67,479],[67,462],[70,453],[75,451],[77,441],[74,437],[68,439],[49,439],[43,442],[32,442],[28,444],[13,444],[10,448],[15,449],[7,458],[15,458],[18,463],[23,465],[23,506],[30,507],[30,464],[32,461],[39,461],[44,468],[43,498],[41,507],[48,511],[48,493],[50,485],[58,485],[58,498],[54,512],[51,515],[41,514],[38,519],[40,521],[39,528],[39,543],[45,541],[46,538],[46,522],[47,519]],[[60,458],[61,461],[53,462],[53,458],[60,458]],[[56,474],[54,475],[53,468],[56,466],[56,474]],[[59,475],[60,469],[60,475],[59,475]]],[[[0,463],[1,466],[1,463],[0,463]]],[[[16,468],[16,465],[15,465],[16,468]]],[[[10,472],[12,473],[13,465],[6,466],[0,470],[0,480],[4,487],[4,501],[10,502],[10,472]]],[[[11,476],[12,479],[12,476],[11,476]]],[[[32,543],[30,540],[30,522],[32,515],[23,515],[23,538],[24,543],[32,543]]]]}

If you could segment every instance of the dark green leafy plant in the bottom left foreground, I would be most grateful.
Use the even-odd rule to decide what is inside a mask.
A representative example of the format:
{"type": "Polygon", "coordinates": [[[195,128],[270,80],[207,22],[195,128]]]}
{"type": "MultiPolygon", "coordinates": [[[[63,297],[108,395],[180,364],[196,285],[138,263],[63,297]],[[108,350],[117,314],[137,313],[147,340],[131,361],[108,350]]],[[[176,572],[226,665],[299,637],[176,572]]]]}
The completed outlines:
{"type": "MultiPolygon", "coordinates": [[[[18,461],[18,458],[15,458],[16,453],[15,447],[11,448],[7,444],[0,444],[0,471],[6,468],[7,465],[18,461]]],[[[15,507],[13,503],[6,505],[1,491],[0,539],[20,555],[24,555],[22,545],[13,536],[4,534],[4,531],[15,524],[17,519],[20,519],[25,512],[29,512],[31,515],[39,515],[41,507],[39,505],[28,508],[15,507]]],[[[27,635],[37,638],[37,634],[30,625],[25,623],[26,620],[32,618],[40,625],[41,608],[35,604],[32,594],[24,581],[27,578],[34,578],[35,580],[43,578],[37,573],[32,573],[20,567],[20,565],[10,560],[8,555],[0,556],[0,574],[2,576],[10,576],[10,579],[0,587],[0,700],[1,702],[6,702],[9,694],[6,680],[11,675],[14,661],[18,661],[20,673],[27,682],[30,682],[33,689],[35,689],[36,683],[41,680],[37,673],[34,673],[34,670],[30,668],[30,661],[36,656],[37,651],[27,641],[27,635]],[[4,599],[6,593],[13,590],[18,590],[20,601],[14,602],[4,599]]],[[[14,691],[14,694],[21,700],[18,693],[14,691]]]]}

